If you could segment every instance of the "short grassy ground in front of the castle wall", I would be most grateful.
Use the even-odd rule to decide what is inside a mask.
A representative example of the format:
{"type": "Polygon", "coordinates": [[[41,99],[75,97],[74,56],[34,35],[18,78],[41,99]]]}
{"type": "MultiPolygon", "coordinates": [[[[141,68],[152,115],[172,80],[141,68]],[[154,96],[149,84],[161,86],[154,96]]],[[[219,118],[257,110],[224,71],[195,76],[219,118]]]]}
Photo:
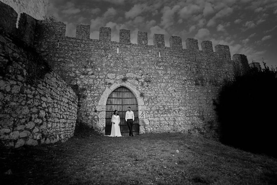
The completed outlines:
{"type": "Polygon", "coordinates": [[[4,184],[277,184],[277,159],[185,134],[74,136],[0,154],[4,184]]]}

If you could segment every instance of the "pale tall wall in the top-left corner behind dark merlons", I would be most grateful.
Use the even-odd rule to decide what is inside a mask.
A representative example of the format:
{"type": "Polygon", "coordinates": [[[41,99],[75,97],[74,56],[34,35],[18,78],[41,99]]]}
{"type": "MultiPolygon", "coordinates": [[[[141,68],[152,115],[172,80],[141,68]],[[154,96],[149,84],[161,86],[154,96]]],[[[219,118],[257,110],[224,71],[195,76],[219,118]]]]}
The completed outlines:
{"type": "Polygon", "coordinates": [[[48,0],[0,0],[11,6],[19,17],[21,13],[26,13],[35,19],[43,20],[47,13],[48,0]]]}

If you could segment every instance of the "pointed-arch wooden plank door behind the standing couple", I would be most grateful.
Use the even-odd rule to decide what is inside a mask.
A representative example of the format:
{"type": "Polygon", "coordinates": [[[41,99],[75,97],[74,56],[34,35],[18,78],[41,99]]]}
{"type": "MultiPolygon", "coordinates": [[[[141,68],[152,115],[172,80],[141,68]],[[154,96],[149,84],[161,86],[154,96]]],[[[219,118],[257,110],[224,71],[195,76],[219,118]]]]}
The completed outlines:
{"type": "Polygon", "coordinates": [[[138,116],[138,103],[134,94],[126,87],[119,87],[115,89],[107,99],[106,103],[106,127],[105,134],[111,135],[111,117],[114,110],[118,111],[120,117],[120,131],[122,136],[129,135],[129,129],[125,120],[127,107],[131,107],[134,112],[133,134],[139,134],[139,116],[138,116]]]}

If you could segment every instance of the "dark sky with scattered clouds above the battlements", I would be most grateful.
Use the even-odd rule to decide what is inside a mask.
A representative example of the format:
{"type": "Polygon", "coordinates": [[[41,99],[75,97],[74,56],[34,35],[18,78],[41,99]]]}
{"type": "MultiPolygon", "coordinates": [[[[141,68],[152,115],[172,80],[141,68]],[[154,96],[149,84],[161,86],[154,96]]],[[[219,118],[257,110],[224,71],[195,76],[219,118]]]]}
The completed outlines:
{"type": "MultiPolygon", "coordinates": [[[[90,25],[90,38],[99,39],[101,26],[111,27],[112,40],[119,41],[119,29],[211,40],[229,45],[231,56],[245,54],[248,61],[277,66],[277,0],[49,0],[48,14],[67,24],[66,35],[75,37],[76,24],[90,25]]],[[[199,49],[201,47],[199,46],[199,49]]]]}

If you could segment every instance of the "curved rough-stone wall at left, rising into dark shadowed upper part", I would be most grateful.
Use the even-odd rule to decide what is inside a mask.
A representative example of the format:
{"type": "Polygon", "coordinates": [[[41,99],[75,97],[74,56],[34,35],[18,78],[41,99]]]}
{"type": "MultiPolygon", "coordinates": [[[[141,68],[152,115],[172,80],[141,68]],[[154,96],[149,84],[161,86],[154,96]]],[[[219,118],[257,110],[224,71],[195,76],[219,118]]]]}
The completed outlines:
{"type": "Polygon", "coordinates": [[[32,51],[33,32],[25,28],[35,19],[22,14],[16,29],[14,10],[0,3],[0,12],[0,146],[66,141],[74,134],[76,94],[32,51]]]}

